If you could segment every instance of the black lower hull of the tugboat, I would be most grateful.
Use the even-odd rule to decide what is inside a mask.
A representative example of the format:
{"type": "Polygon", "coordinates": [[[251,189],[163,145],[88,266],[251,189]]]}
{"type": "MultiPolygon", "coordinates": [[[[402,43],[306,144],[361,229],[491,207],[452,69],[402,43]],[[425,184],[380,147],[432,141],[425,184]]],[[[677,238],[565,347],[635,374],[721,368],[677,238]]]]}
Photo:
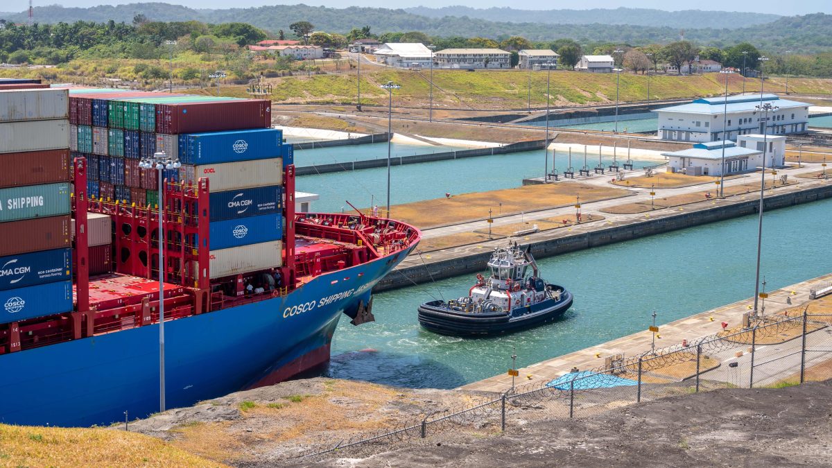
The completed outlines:
{"type": "Polygon", "coordinates": [[[539,310],[532,310],[522,316],[505,313],[469,314],[438,306],[439,304],[441,301],[430,301],[418,307],[419,324],[426,330],[452,336],[504,335],[556,320],[572,306],[572,294],[563,291],[559,301],[543,303],[539,310]]]}

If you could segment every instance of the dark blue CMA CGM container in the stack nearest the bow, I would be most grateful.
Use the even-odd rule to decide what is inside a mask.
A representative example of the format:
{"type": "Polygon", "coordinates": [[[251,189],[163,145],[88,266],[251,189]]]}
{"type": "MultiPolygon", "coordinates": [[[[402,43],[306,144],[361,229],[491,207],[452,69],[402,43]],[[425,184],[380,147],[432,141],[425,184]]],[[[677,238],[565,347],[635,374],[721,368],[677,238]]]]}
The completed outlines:
{"type": "Polygon", "coordinates": [[[280,186],[244,188],[210,194],[211,222],[276,212],[280,212],[280,186]]]}

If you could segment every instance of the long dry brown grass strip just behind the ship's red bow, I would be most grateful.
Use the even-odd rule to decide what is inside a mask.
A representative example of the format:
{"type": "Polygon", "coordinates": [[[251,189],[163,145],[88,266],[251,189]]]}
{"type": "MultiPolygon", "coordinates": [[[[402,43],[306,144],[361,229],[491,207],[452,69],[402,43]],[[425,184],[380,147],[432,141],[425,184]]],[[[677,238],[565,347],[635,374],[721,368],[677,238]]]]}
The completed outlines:
{"type": "Polygon", "coordinates": [[[391,217],[403,222],[427,229],[485,219],[488,217],[489,208],[494,216],[506,216],[547,208],[566,207],[576,202],[577,195],[581,196],[581,202],[596,202],[608,198],[625,197],[628,192],[619,188],[572,182],[531,185],[396,205],[390,209],[390,214],[391,217]]]}

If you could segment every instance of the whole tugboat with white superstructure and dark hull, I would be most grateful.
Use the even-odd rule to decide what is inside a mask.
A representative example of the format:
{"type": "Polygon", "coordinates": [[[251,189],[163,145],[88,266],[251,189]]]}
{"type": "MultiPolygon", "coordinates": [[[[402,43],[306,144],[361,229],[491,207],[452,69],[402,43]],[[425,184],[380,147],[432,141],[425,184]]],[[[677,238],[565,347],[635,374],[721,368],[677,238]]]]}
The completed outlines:
{"type": "Polygon", "coordinates": [[[491,276],[478,274],[468,296],[425,302],[418,308],[419,323],[443,335],[488,336],[542,325],[562,316],[572,306],[572,293],[538,276],[530,247],[522,250],[515,243],[495,249],[488,261],[491,276]]]}

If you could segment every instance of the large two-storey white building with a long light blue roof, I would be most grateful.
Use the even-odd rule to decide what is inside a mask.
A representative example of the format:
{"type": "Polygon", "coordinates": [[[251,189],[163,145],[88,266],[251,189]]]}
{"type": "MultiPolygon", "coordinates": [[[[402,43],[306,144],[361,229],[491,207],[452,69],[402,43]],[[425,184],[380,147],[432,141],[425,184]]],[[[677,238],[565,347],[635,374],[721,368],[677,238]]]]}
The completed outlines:
{"type": "Polygon", "coordinates": [[[740,96],[701,97],[689,104],[656,109],[659,117],[659,137],[676,142],[716,142],[735,140],[738,135],[768,133],[788,135],[806,131],[809,123],[809,104],[780,99],[775,94],[745,94],[740,96]],[[769,112],[768,120],[757,111],[760,101],[777,107],[769,112]],[[723,112],[727,118],[723,125],[723,112]],[[765,125],[765,130],[764,130],[765,125]],[[727,132],[723,137],[723,132],[727,132]]]}

